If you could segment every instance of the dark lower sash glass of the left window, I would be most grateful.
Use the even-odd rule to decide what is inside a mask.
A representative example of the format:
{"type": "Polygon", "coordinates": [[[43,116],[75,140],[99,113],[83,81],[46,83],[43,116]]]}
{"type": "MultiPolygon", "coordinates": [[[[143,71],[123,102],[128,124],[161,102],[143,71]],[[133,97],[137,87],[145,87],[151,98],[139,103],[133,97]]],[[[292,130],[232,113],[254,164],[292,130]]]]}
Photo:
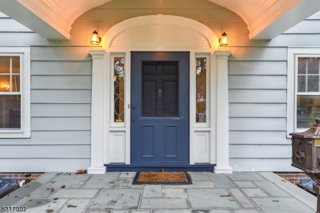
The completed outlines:
{"type": "Polygon", "coordinates": [[[0,95],[0,128],[20,128],[20,95],[0,95]]]}

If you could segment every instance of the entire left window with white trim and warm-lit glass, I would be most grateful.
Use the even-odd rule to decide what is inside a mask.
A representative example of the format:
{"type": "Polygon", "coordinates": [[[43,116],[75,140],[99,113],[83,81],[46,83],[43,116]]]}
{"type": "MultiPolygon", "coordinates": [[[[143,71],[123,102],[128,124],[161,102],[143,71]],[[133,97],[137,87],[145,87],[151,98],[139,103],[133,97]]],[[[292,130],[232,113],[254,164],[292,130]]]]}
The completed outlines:
{"type": "Polygon", "coordinates": [[[0,137],[30,137],[30,47],[0,47],[0,137]]]}

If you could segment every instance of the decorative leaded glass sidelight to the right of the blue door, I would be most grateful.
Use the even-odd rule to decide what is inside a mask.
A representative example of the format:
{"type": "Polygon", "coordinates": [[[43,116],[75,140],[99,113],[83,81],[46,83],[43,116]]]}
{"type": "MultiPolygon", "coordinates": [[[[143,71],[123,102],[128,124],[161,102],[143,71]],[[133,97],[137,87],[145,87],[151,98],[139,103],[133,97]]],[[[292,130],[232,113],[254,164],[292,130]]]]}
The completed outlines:
{"type": "Polygon", "coordinates": [[[196,122],[205,122],[205,113],[206,113],[206,57],[196,57],[195,58],[195,121],[196,122]]]}

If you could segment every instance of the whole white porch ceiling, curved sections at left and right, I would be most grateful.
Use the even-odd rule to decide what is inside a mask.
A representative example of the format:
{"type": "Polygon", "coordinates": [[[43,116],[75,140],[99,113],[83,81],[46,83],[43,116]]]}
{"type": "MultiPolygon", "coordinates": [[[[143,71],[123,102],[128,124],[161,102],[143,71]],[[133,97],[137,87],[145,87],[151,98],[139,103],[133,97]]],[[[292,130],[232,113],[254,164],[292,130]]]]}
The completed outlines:
{"type": "MultiPolygon", "coordinates": [[[[47,39],[69,39],[75,19],[111,0],[0,0],[0,11],[47,39]]],[[[250,39],[272,39],[320,10],[320,0],[208,0],[238,14],[250,39]]]]}

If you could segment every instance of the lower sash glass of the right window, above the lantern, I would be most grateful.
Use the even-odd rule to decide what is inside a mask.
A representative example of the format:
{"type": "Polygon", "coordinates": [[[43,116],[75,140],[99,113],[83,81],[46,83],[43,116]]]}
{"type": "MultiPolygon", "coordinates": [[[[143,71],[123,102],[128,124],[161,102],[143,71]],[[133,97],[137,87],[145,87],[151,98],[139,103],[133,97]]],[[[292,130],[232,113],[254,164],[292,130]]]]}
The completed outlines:
{"type": "Polygon", "coordinates": [[[296,127],[309,128],[314,117],[320,116],[320,95],[297,95],[296,127]]]}

